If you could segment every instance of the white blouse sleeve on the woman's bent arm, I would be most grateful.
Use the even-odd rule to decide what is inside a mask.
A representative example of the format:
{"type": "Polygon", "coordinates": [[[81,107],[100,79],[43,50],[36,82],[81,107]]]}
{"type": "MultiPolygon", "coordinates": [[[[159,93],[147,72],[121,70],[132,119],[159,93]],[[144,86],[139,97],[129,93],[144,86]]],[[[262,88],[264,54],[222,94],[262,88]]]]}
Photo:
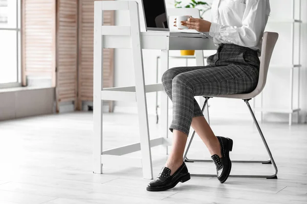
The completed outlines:
{"type": "Polygon", "coordinates": [[[233,43],[245,47],[256,46],[262,37],[266,16],[270,13],[270,6],[265,0],[247,0],[242,27],[222,25],[212,22],[209,35],[223,43],[233,43]]]}

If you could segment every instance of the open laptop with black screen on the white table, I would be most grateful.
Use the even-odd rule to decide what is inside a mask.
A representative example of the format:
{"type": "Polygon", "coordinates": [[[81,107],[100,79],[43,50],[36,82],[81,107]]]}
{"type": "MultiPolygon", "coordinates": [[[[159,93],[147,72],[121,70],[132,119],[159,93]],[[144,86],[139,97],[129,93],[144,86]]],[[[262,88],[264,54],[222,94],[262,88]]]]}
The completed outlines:
{"type": "Polygon", "coordinates": [[[201,33],[170,31],[165,0],[142,0],[146,31],[167,32],[174,37],[203,37],[201,33]]]}

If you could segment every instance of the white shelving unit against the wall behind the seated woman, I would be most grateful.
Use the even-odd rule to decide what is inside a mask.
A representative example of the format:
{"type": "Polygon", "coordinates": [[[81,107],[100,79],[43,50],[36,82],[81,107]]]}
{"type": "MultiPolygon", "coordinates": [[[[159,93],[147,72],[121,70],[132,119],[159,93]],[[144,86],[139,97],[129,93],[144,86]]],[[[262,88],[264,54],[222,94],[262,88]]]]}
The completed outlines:
{"type": "MultiPolygon", "coordinates": [[[[261,99],[260,99],[260,108],[255,108],[256,101],[254,101],[254,111],[260,112],[261,113],[261,121],[263,120],[263,115],[264,113],[288,113],[289,114],[289,125],[292,125],[292,118],[293,114],[297,114],[297,121],[299,122],[299,112],[300,112],[300,69],[301,69],[301,59],[300,59],[300,54],[301,54],[301,0],[292,0],[292,19],[269,19],[268,23],[291,23],[291,58],[292,58],[292,64],[290,65],[278,65],[278,64],[273,64],[270,66],[270,68],[290,68],[290,92],[289,92],[289,108],[286,109],[280,109],[280,108],[267,108],[263,106],[263,91],[261,93],[261,99]],[[299,4],[298,7],[298,19],[296,18],[296,4],[299,4]],[[295,63],[295,24],[298,23],[298,32],[299,32],[299,39],[298,39],[298,63],[295,63]],[[294,106],[294,70],[298,69],[298,94],[297,94],[297,107],[294,106]]],[[[285,100],[286,101],[286,100],[285,100]]]]}

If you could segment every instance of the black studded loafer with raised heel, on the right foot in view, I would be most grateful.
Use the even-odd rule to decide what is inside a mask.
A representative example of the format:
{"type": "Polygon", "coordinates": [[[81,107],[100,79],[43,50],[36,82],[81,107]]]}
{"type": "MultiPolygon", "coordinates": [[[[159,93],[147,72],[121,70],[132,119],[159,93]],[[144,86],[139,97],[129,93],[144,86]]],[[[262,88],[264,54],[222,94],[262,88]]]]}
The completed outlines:
{"type": "Polygon", "coordinates": [[[217,139],[221,144],[222,158],[218,157],[217,155],[212,155],[211,158],[216,166],[217,179],[223,184],[228,179],[231,171],[229,151],[232,151],[233,141],[232,139],[218,136],[217,139]]]}

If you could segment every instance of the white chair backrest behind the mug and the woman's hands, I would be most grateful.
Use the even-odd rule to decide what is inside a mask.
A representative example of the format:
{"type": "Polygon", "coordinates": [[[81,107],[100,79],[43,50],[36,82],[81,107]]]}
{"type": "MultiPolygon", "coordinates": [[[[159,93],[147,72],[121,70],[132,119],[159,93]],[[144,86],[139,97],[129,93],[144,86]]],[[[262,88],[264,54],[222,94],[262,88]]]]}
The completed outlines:
{"type": "MultiPolygon", "coordinates": [[[[192,16],[194,18],[200,18],[200,10],[196,8],[167,8],[166,10],[168,15],[168,24],[170,31],[178,30],[176,27],[173,26],[173,21],[175,16],[192,16]]],[[[185,31],[186,32],[186,31],[185,31]]],[[[189,30],[188,32],[195,33],[197,31],[189,30]]]]}

